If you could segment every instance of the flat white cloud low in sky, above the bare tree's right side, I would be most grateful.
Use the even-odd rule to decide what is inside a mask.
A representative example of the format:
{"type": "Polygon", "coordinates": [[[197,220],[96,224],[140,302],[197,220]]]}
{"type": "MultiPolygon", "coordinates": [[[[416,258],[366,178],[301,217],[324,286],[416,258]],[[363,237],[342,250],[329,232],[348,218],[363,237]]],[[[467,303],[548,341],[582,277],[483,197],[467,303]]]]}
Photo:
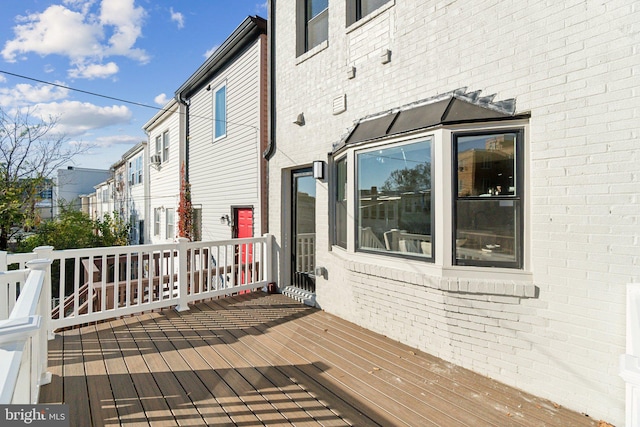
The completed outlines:
{"type": "Polygon", "coordinates": [[[132,113],[123,105],[100,107],[88,102],[62,101],[38,104],[32,110],[34,116],[58,120],[56,131],[69,137],[108,126],[127,124],[132,113]]]}

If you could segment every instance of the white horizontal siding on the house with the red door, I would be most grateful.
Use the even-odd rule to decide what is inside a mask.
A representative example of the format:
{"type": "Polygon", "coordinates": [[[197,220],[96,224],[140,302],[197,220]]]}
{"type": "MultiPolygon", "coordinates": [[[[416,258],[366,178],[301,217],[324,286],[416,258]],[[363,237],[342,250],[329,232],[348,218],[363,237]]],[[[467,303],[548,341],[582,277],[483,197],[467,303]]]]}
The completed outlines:
{"type": "Polygon", "coordinates": [[[189,181],[194,206],[202,206],[202,240],[228,239],[231,229],[220,223],[231,206],[254,206],[254,224],[260,218],[259,150],[260,41],[256,41],[211,81],[213,90],[202,89],[191,98],[189,181]],[[212,143],[215,90],[227,90],[226,138],[212,143]]]}

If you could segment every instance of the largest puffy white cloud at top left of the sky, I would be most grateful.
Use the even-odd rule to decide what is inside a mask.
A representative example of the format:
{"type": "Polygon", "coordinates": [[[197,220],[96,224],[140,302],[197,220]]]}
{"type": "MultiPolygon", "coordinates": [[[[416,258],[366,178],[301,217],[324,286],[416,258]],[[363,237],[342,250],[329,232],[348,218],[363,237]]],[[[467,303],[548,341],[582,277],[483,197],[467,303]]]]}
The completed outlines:
{"type": "MultiPolygon", "coordinates": [[[[16,18],[15,37],[8,40],[3,58],[15,62],[19,56],[35,53],[41,56],[62,55],[69,58],[78,77],[109,76],[103,66],[98,73],[81,73],[87,64],[99,64],[106,57],[125,56],[141,63],[149,56],[134,45],[142,34],[146,12],[134,6],[134,0],[102,0],[99,13],[92,13],[95,1],[66,0],[64,5],[49,6],[44,12],[16,18]]],[[[96,68],[95,70],[98,70],[96,68]]]]}

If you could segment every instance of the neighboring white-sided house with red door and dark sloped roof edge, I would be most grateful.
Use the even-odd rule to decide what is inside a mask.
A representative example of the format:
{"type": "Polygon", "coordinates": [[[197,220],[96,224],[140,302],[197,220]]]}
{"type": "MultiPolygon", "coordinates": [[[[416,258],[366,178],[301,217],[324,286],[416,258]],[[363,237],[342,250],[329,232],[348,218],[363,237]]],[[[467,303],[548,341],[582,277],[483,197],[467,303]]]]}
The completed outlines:
{"type": "Polygon", "coordinates": [[[176,91],[196,240],[266,232],[266,30],[246,18],[176,91]]]}

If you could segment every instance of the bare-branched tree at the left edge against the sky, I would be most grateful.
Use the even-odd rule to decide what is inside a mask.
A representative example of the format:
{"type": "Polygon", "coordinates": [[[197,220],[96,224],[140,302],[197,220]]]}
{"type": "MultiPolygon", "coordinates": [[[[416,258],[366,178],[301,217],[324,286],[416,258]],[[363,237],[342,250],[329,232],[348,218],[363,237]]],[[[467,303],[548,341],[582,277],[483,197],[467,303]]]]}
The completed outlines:
{"type": "Polygon", "coordinates": [[[0,108],[0,250],[36,222],[35,202],[45,179],[85,148],[57,134],[57,119],[36,118],[30,109],[0,108]]]}

